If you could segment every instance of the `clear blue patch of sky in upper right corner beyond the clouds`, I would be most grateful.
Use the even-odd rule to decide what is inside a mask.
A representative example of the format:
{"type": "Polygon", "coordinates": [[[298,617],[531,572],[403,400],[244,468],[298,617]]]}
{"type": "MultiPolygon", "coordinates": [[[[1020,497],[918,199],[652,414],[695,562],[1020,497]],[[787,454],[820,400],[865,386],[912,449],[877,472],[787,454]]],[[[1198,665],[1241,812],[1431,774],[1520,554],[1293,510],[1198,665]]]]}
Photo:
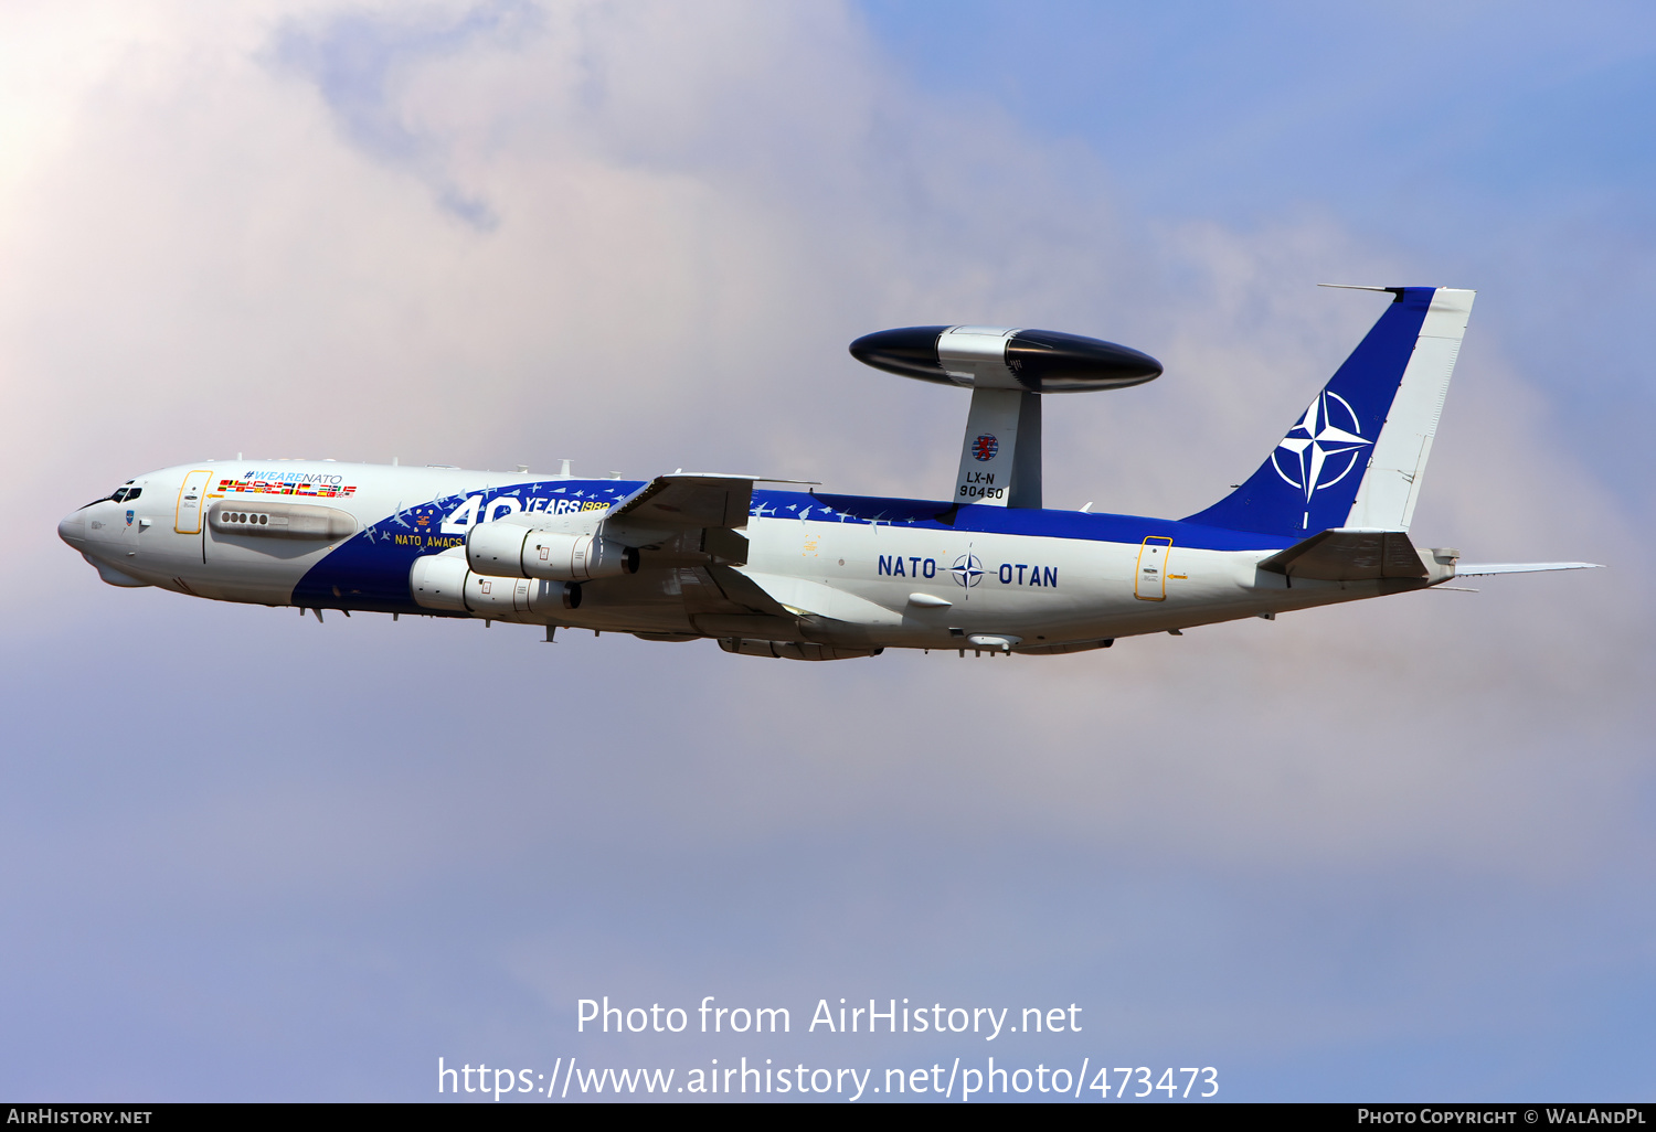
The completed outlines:
{"type": "Polygon", "coordinates": [[[921,89],[1085,146],[1139,222],[1320,213],[1424,281],[1477,286],[1480,324],[1648,506],[1636,448],[1593,444],[1606,414],[1656,409],[1643,5],[863,8],[921,89]]]}

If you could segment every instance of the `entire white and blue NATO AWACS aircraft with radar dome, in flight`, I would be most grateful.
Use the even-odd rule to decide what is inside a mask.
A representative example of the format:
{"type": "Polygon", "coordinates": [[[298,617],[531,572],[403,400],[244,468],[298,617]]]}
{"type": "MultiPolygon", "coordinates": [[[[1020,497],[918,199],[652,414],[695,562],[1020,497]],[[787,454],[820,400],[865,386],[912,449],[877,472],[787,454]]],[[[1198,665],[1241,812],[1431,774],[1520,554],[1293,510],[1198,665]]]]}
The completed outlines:
{"type": "Polygon", "coordinates": [[[795,660],[1065,654],[1119,637],[1590,563],[1461,564],[1409,520],[1474,291],[1399,286],[1235,492],[1182,520],[1045,510],[1042,402],[1161,364],[1052,331],[859,338],[889,372],[970,389],[947,500],[674,472],[649,482],[202,460],[58,525],[106,583],[217,601],[482,617],[795,660]],[[755,487],[785,485],[785,487],[755,487]],[[792,487],[790,487],[792,485],[792,487]]]}

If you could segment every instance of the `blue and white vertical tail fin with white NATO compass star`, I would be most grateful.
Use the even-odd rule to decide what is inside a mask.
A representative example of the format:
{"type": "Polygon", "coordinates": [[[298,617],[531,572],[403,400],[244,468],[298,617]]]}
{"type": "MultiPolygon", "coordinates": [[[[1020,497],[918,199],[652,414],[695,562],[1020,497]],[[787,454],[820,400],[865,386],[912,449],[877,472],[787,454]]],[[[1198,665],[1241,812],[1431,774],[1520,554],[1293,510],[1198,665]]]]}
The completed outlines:
{"type": "Polygon", "coordinates": [[[1472,291],[1373,288],[1391,306],[1247,483],[1187,523],[1303,536],[1406,530],[1472,291]]]}

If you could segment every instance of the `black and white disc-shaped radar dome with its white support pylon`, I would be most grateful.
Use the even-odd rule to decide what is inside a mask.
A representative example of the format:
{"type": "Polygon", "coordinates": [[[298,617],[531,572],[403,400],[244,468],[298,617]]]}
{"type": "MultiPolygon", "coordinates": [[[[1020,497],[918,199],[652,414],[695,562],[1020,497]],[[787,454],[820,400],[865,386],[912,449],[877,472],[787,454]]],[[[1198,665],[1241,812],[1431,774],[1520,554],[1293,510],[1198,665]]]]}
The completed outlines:
{"type": "Polygon", "coordinates": [[[1080,334],[1005,326],[906,326],[866,334],[851,356],[874,369],[972,391],[954,503],[1042,505],[1042,394],[1126,389],[1161,362],[1080,334]]]}

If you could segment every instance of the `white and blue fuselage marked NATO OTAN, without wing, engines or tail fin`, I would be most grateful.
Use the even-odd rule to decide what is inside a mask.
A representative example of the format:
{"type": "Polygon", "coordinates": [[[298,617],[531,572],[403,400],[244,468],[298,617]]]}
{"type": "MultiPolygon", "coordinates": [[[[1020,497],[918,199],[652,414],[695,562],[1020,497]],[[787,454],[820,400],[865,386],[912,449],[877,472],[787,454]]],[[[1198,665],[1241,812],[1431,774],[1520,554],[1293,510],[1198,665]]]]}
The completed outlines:
{"type": "MultiPolygon", "coordinates": [[[[60,533],[113,584],[270,606],[434,612],[409,592],[414,559],[464,554],[470,528],[523,511],[603,513],[638,487],[459,468],[202,462],[137,477],[123,488],[136,488],[136,498],[88,505],[60,533]],[[335,528],[272,538],[257,528],[260,508],[330,513],[335,528]],[[230,526],[247,515],[250,533],[230,526]]],[[[454,612],[845,647],[969,647],[965,639],[992,634],[1035,650],[1426,584],[1290,586],[1259,563],[1292,540],[1169,520],[802,492],[755,492],[745,536],[745,564],[709,568],[646,551],[636,574],[586,583],[578,607],[530,602],[523,594],[533,583],[515,583],[513,606],[513,583],[502,579],[485,589],[507,597],[454,612]],[[745,583],[732,584],[724,571],[745,583]]]]}

